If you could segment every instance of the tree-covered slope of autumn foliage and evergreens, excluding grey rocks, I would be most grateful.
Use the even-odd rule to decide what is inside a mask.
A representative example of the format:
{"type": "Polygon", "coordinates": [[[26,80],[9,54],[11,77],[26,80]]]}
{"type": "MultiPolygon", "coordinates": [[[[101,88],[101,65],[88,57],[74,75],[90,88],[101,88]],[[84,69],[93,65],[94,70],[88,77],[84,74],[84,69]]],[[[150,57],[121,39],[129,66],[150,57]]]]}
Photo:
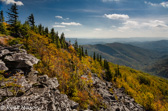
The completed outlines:
{"type": "MultiPolygon", "coordinates": [[[[106,108],[101,95],[94,91],[92,74],[96,74],[116,88],[124,87],[125,93],[148,111],[168,109],[167,80],[110,63],[96,53],[90,57],[77,41],[75,44],[65,41],[64,33],[59,36],[54,28],[49,31],[42,24],[36,26],[33,14],[21,24],[16,4],[9,9],[8,15],[6,22],[3,11],[0,13],[0,36],[9,38],[0,44],[23,44],[22,48],[40,59],[34,66],[39,75],[57,77],[61,93],[79,103],[81,108],[106,108]],[[87,78],[83,75],[87,75],[87,78]]],[[[4,72],[1,71],[1,74],[4,72]]],[[[113,89],[110,91],[113,93],[113,89]]]]}

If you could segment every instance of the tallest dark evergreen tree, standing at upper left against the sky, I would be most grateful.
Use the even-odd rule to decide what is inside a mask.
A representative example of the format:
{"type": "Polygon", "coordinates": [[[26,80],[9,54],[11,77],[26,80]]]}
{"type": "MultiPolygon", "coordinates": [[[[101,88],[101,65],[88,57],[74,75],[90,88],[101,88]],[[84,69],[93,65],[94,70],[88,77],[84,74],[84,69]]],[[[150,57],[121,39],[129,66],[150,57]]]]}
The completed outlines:
{"type": "Polygon", "coordinates": [[[8,17],[9,17],[9,20],[7,21],[11,27],[10,27],[10,31],[11,31],[11,35],[13,36],[18,36],[18,27],[17,27],[17,22],[18,22],[18,9],[17,9],[17,5],[16,3],[13,4],[11,6],[10,9],[8,9],[9,12],[8,12],[8,17]]]}

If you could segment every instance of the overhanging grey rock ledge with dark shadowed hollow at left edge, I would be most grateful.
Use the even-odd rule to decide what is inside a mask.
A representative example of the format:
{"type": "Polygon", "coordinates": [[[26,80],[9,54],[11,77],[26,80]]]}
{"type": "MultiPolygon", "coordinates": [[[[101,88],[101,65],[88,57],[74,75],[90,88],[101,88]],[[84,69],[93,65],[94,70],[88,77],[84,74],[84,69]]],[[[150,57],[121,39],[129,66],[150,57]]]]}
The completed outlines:
{"type": "Polygon", "coordinates": [[[23,71],[25,75],[31,72],[34,64],[39,59],[27,54],[26,50],[19,49],[21,45],[1,47],[0,46],[0,70],[7,71],[8,76],[13,75],[17,71],[23,71]],[[14,71],[15,70],[15,71],[14,71]]]}

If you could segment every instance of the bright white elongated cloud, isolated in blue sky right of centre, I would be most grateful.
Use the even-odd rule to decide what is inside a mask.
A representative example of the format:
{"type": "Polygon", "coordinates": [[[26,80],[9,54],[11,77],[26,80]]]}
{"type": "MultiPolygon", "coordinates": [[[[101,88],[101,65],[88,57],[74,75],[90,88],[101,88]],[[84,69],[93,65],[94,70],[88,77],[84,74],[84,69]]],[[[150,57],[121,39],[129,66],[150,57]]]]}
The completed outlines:
{"type": "Polygon", "coordinates": [[[126,20],[129,19],[128,15],[125,14],[104,14],[104,16],[108,19],[113,19],[113,20],[126,20]]]}

